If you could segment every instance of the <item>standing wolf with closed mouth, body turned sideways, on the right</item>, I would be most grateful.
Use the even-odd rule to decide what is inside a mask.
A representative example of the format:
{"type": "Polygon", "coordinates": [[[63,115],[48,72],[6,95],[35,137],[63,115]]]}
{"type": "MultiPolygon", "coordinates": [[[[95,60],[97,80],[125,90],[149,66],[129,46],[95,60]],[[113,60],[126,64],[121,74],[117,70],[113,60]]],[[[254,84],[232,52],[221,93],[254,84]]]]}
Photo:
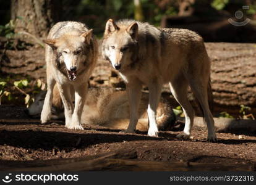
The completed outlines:
{"type": "Polygon", "coordinates": [[[181,105],[186,125],[177,137],[188,139],[194,121],[194,110],[187,99],[187,88],[194,92],[202,107],[208,127],[208,141],[216,141],[211,100],[210,60],[203,39],[194,31],[158,29],[135,20],[109,19],[102,41],[102,55],[127,83],[130,123],[125,131],[134,133],[142,84],[148,86],[149,136],[157,136],[156,107],[161,87],[169,83],[173,96],[181,105]]]}

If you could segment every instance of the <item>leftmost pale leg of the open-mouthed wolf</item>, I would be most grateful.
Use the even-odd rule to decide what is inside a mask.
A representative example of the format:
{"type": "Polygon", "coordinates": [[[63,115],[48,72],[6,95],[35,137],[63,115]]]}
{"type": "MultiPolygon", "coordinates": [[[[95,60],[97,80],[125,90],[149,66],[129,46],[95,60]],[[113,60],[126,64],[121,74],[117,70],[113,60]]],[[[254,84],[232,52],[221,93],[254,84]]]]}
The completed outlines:
{"type": "Polygon", "coordinates": [[[53,76],[49,76],[47,79],[47,93],[41,112],[41,123],[47,123],[49,120],[51,120],[51,105],[53,102],[53,88],[55,84],[56,81],[54,80],[53,76]]]}

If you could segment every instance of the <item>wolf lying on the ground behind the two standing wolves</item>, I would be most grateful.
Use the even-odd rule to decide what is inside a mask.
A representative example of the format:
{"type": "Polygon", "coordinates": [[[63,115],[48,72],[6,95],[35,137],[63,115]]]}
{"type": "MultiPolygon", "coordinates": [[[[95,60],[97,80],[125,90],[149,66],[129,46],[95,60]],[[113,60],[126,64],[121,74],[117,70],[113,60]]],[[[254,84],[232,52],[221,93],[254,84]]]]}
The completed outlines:
{"type": "MultiPolygon", "coordinates": [[[[33,118],[40,117],[46,91],[41,91],[35,102],[27,109],[28,115],[33,118]]],[[[139,105],[139,121],[137,130],[148,130],[147,119],[148,93],[142,92],[139,105]]],[[[63,104],[57,86],[53,89],[52,119],[64,119],[63,104]]],[[[108,128],[124,130],[129,125],[129,103],[126,91],[116,91],[113,88],[89,88],[87,100],[83,107],[81,124],[101,125],[108,128]]],[[[175,114],[169,102],[161,99],[156,110],[158,130],[169,130],[176,121],[175,114]]]]}

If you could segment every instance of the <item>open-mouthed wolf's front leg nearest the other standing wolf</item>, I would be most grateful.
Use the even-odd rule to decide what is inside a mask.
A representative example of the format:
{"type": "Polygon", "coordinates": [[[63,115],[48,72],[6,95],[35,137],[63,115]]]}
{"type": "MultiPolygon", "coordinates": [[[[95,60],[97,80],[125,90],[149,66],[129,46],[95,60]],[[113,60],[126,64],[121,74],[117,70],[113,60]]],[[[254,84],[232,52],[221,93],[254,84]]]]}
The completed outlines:
{"type": "Polygon", "coordinates": [[[84,83],[81,86],[75,87],[75,109],[72,115],[72,123],[68,128],[83,130],[81,125],[81,115],[85,104],[88,91],[88,84],[84,83]]]}

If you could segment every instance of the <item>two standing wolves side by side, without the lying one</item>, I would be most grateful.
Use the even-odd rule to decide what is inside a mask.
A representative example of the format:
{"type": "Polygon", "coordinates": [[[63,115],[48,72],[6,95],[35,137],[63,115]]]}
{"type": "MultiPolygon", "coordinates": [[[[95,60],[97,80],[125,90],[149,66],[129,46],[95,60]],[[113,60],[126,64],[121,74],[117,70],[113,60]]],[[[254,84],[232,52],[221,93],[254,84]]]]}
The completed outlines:
{"type": "MultiPolygon", "coordinates": [[[[92,30],[78,22],[60,22],[49,32],[46,46],[48,92],[41,122],[51,118],[54,84],[64,104],[66,127],[83,129],[81,115],[87,95],[87,82],[95,67],[97,43],[92,30]],[[72,101],[75,101],[73,106],[72,101]]],[[[161,87],[169,83],[171,92],[184,110],[184,133],[188,139],[192,130],[194,110],[187,99],[188,85],[200,103],[208,127],[208,141],[216,141],[210,86],[210,60],[203,39],[193,31],[158,29],[135,20],[109,19],[102,42],[102,55],[118,70],[127,84],[130,121],[126,133],[134,133],[139,119],[143,84],[148,86],[148,135],[157,136],[156,109],[161,87]]]]}

